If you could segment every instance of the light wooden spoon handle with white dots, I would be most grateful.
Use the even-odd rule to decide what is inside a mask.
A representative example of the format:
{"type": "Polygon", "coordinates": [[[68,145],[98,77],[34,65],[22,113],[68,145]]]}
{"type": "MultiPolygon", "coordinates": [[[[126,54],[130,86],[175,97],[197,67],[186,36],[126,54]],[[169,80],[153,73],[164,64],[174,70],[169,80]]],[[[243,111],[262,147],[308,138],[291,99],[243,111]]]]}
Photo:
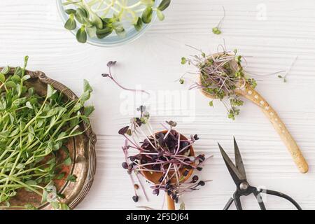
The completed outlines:
{"type": "Polygon", "coordinates": [[[274,129],[280,135],[283,143],[288,148],[288,151],[292,155],[292,158],[297,165],[297,168],[301,173],[306,173],[309,170],[307,162],[300,151],[299,146],[297,146],[295,140],[288,132],[286,125],[283,124],[282,120],[279,118],[278,114],[271,106],[263,99],[258,92],[256,92],[252,87],[246,85],[244,89],[237,90],[238,94],[241,94],[246,99],[249,99],[251,102],[256,104],[262,109],[262,112],[265,113],[269,121],[274,125],[274,129]]]}

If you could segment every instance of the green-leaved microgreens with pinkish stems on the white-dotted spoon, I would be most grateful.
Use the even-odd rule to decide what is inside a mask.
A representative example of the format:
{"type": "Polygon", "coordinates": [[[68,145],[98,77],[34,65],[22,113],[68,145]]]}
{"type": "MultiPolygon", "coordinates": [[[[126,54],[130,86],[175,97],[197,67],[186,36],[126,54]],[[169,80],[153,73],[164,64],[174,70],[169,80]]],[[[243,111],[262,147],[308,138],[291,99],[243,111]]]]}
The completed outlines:
{"type": "MultiPolygon", "coordinates": [[[[217,56],[200,52],[200,55],[186,58],[186,63],[193,64],[197,68],[193,74],[200,77],[200,82],[193,83],[190,90],[197,88],[220,99],[228,111],[228,118],[235,120],[235,116],[239,115],[239,106],[244,104],[235,90],[240,87],[240,83],[241,85],[247,83],[255,88],[256,81],[245,75],[244,68],[241,66],[243,57],[237,55],[237,50],[232,52],[224,50],[217,56]]],[[[212,101],[209,106],[214,106],[212,101]]]]}

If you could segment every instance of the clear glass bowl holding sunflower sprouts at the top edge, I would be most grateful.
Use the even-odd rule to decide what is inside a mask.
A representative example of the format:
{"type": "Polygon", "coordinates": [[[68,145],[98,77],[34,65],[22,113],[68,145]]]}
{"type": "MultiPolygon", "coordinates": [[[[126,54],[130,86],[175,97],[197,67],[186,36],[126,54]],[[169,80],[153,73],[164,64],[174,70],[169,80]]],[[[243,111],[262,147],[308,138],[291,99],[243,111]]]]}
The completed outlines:
{"type": "MultiPolygon", "coordinates": [[[[155,0],[155,6],[158,6],[161,1],[162,0],[155,0]]],[[[62,5],[63,2],[64,2],[64,0],[57,0],[57,8],[58,8],[58,12],[59,12],[60,17],[62,18],[62,22],[65,23],[66,20],[68,20],[69,15],[67,15],[64,12],[64,6],[62,5]]],[[[87,43],[90,43],[92,45],[96,45],[99,47],[106,47],[106,48],[116,47],[116,46],[124,45],[126,43],[130,43],[130,42],[136,40],[137,38],[139,38],[142,34],[144,34],[144,32],[149,27],[151,27],[153,22],[155,22],[156,18],[157,18],[157,15],[155,12],[153,12],[153,18],[149,24],[144,24],[140,31],[137,31],[136,29],[126,30],[126,36],[125,37],[118,36],[114,32],[113,32],[113,34],[106,36],[103,39],[99,39],[97,37],[90,38],[90,36],[87,36],[87,43]]],[[[74,36],[76,36],[76,31],[78,31],[78,29],[79,28],[77,27],[76,29],[71,30],[71,33],[74,36]]]]}

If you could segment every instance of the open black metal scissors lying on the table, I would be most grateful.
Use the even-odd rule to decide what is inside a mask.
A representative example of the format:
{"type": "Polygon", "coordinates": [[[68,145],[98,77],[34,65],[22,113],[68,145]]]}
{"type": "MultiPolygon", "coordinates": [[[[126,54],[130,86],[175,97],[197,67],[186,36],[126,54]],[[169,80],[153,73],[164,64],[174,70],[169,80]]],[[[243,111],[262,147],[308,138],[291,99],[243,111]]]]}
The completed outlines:
{"type": "Polygon", "coordinates": [[[293,200],[293,198],[289,197],[288,195],[285,195],[283,193],[279,193],[279,192],[274,191],[274,190],[255,188],[255,187],[250,186],[248,184],[248,181],[246,179],[246,172],[245,172],[243,160],[241,160],[241,153],[239,153],[239,147],[237,146],[237,142],[235,141],[235,138],[234,138],[235,165],[230,160],[230,158],[225,153],[225,151],[220,146],[220,144],[218,144],[218,146],[219,146],[221,154],[223,156],[223,160],[225,162],[225,165],[228,167],[228,170],[232,176],[232,179],[237,186],[237,190],[235,191],[233,197],[230,198],[230,200],[225,205],[223,210],[228,210],[230,208],[232,202],[235,202],[235,207],[237,208],[237,210],[242,210],[240,197],[241,196],[248,196],[251,194],[255,195],[255,198],[257,199],[257,202],[259,204],[260,209],[265,210],[266,207],[265,207],[264,202],[262,202],[261,193],[265,193],[268,195],[274,195],[277,197],[282,197],[282,198],[288,200],[289,202],[291,202],[292,204],[294,204],[294,206],[298,210],[302,210],[300,205],[297,204],[297,202],[295,202],[295,200],[293,200]]]}

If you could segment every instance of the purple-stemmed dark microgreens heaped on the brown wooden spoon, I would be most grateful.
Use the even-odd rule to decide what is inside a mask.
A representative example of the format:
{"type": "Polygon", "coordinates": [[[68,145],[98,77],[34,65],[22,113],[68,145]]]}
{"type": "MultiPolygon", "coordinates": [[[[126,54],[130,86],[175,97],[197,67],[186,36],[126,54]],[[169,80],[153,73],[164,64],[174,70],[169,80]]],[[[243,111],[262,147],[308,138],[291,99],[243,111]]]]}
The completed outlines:
{"type": "MultiPolygon", "coordinates": [[[[175,202],[179,202],[183,193],[204,186],[207,181],[200,181],[197,175],[185,182],[186,176],[195,169],[201,170],[207,160],[204,154],[191,154],[190,148],[199,139],[197,134],[186,139],[174,130],[177,123],[172,120],[167,121],[166,125],[162,124],[165,131],[153,132],[145,106],[141,106],[138,111],[141,111],[141,116],[132,118],[130,126],[123,127],[118,132],[125,137],[125,162],[122,166],[127,174],[160,174],[158,183],[152,183],[153,195],[165,191],[175,202]]],[[[135,196],[133,200],[136,202],[135,196]]]]}

